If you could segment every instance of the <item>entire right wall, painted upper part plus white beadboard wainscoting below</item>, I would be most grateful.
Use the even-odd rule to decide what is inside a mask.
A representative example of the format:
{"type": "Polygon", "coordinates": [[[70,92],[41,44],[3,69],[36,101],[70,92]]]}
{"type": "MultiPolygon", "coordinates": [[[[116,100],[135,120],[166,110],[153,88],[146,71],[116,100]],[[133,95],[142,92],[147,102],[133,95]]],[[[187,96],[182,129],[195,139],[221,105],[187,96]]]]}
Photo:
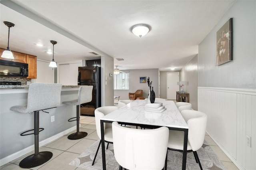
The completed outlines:
{"type": "Polygon", "coordinates": [[[255,96],[245,96],[246,92],[242,95],[230,92],[230,90],[239,91],[240,89],[240,91],[252,89],[254,93],[256,91],[256,1],[234,2],[220,22],[199,44],[198,86],[199,89],[220,88],[219,91],[204,90],[200,93],[198,91],[198,110],[208,115],[207,132],[209,135],[224,151],[227,150],[226,153],[230,159],[240,169],[256,169],[255,96]],[[234,61],[215,66],[216,32],[229,18],[233,18],[234,61]],[[223,88],[230,90],[223,90],[223,88]],[[220,94],[222,91],[225,92],[224,95],[220,94]],[[226,100],[223,100],[223,97],[226,100]],[[212,106],[212,110],[202,109],[201,101],[206,106],[212,106]],[[239,104],[239,106],[242,104],[242,107],[234,104],[239,104]],[[222,108],[222,114],[218,112],[220,108],[222,108]],[[216,116],[218,119],[212,118],[216,116]],[[240,119],[244,120],[239,121],[240,119]],[[232,125],[232,129],[230,130],[230,127],[226,125],[232,125]],[[225,141],[220,140],[222,136],[230,135],[229,133],[232,137],[226,138],[225,141]],[[246,146],[246,134],[251,135],[254,141],[252,147],[246,146]],[[230,151],[230,147],[233,150],[230,151]]]}

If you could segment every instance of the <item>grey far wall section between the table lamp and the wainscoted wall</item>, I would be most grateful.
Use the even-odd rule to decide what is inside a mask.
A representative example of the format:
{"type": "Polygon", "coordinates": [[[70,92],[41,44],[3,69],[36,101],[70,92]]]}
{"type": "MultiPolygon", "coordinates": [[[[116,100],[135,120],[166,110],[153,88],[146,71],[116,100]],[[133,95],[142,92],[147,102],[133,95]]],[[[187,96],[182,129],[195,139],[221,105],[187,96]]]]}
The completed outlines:
{"type": "Polygon", "coordinates": [[[187,81],[186,91],[189,93],[189,103],[192,104],[192,109],[197,110],[198,55],[180,70],[180,81],[187,81]]]}

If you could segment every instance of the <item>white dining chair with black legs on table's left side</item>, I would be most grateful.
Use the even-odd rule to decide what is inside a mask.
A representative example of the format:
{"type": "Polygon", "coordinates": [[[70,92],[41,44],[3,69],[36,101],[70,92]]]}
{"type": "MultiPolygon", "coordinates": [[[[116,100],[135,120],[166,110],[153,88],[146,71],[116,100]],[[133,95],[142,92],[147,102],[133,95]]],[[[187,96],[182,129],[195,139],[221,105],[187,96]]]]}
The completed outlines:
{"type": "MultiPolygon", "coordinates": [[[[118,109],[116,106],[103,106],[103,107],[98,107],[97,109],[94,110],[94,115],[95,115],[95,123],[96,123],[96,131],[97,135],[100,138],[100,143],[97,148],[96,154],[94,156],[94,160],[92,162],[92,165],[94,165],[94,162],[96,160],[96,156],[98,154],[98,150],[100,148],[101,144],[101,130],[100,130],[100,118],[104,117],[105,115],[108,115],[108,113],[115,111],[118,109]]],[[[105,142],[113,143],[113,136],[112,136],[112,125],[111,123],[104,123],[104,140],[105,142]]],[[[108,145],[107,145],[108,149],[108,145]]]]}

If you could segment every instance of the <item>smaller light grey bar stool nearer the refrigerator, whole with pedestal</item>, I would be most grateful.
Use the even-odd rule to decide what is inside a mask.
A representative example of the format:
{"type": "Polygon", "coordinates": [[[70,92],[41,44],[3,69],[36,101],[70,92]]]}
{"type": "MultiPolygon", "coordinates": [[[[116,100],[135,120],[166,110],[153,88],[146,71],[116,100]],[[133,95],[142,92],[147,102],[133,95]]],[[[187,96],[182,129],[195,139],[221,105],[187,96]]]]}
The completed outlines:
{"type": "MultiPolygon", "coordinates": [[[[76,117],[71,118],[71,119],[76,118],[76,120],[72,120],[72,121],[76,121],[76,132],[68,135],[68,139],[71,139],[71,140],[81,139],[87,136],[88,134],[87,132],[79,132],[80,105],[82,103],[88,103],[92,101],[92,88],[93,88],[92,85],[80,86],[78,90],[78,99],[62,102],[62,104],[65,104],[65,105],[76,105],[76,117]]],[[[72,122],[71,119],[68,119],[68,121],[72,122]]]]}

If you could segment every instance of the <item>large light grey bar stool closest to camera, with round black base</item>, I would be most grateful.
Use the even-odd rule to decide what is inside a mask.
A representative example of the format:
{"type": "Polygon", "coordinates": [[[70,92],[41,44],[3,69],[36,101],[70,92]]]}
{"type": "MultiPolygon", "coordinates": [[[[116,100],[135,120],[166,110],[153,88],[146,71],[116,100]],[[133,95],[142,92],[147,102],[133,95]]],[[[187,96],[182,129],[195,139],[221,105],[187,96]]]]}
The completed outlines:
{"type": "MultiPolygon", "coordinates": [[[[39,132],[44,130],[44,128],[39,128],[39,111],[60,106],[61,88],[62,84],[32,83],[28,89],[28,104],[17,105],[10,108],[10,110],[20,113],[34,112],[34,129],[32,129],[34,130],[34,133],[30,134],[34,134],[35,153],[27,156],[20,162],[21,168],[33,168],[44,164],[52,158],[52,152],[39,152],[39,132]]],[[[23,132],[20,135],[30,135],[25,134],[26,132],[23,132]]]]}

